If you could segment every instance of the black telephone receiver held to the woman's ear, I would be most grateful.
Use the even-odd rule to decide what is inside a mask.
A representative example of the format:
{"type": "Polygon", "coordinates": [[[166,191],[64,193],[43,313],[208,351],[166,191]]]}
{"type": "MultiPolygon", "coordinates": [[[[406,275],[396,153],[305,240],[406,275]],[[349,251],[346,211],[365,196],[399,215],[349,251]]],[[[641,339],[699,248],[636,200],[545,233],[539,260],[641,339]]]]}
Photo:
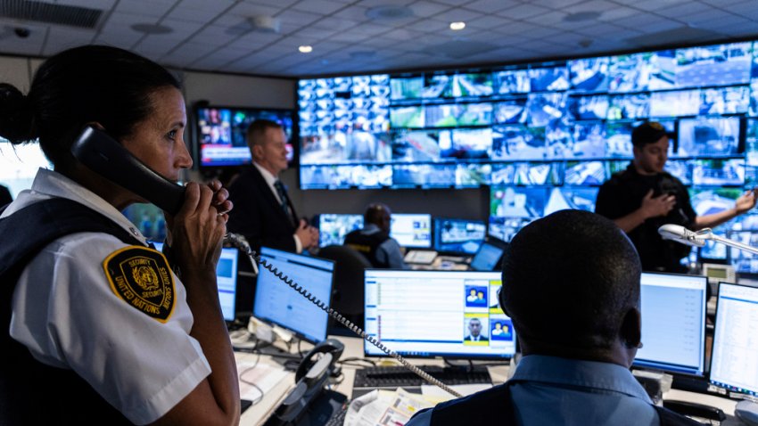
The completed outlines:
{"type": "Polygon", "coordinates": [[[159,175],[110,135],[87,126],[71,146],[74,158],[114,184],[119,184],[176,215],[185,200],[185,187],[159,175]]]}

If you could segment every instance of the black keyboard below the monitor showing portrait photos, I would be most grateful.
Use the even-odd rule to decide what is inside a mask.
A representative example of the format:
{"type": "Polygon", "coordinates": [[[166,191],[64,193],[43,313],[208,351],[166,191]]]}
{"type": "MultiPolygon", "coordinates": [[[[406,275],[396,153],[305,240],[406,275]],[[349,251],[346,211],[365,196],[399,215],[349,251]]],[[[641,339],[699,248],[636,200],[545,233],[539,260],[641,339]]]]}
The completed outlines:
{"type": "MultiPolygon", "coordinates": [[[[438,365],[416,365],[425,373],[446,385],[484,383],[492,384],[487,367],[477,365],[469,367],[441,367],[438,365]]],[[[368,367],[355,372],[353,388],[397,389],[414,388],[426,384],[426,381],[402,365],[368,367]]]]}

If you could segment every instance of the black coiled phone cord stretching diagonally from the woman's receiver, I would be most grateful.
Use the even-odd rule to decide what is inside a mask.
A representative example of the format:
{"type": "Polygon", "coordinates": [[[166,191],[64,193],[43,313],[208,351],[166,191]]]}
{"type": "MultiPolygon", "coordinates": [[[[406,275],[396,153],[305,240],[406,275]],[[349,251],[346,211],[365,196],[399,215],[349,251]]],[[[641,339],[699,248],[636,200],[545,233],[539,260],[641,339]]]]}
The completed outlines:
{"type": "Polygon", "coordinates": [[[247,242],[247,240],[240,234],[237,233],[227,233],[227,236],[225,238],[225,241],[231,243],[233,246],[235,246],[237,249],[243,250],[243,252],[250,258],[250,261],[253,265],[260,264],[261,266],[268,269],[271,274],[274,274],[276,278],[278,278],[283,283],[286,283],[289,285],[292,290],[299,292],[302,297],[305,299],[309,299],[311,303],[319,307],[321,310],[323,310],[326,314],[333,317],[335,320],[339,321],[340,324],[344,325],[348,329],[350,329],[351,332],[354,332],[358,334],[362,339],[367,340],[369,343],[374,345],[376,348],[379,348],[387,354],[387,356],[391,356],[394,359],[397,359],[400,364],[404,365],[408,370],[410,370],[413,373],[416,373],[419,377],[424,379],[424,381],[428,381],[432,383],[433,385],[439,387],[440,389],[445,390],[450,395],[453,395],[454,397],[463,397],[461,394],[457,393],[455,390],[450,389],[448,385],[445,383],[442,383],[441,381],[438,381],[437,379],[433,378],[432,375],[429,373],[424,372],[420,368],[416,367],[416,365],[412,365],[408,363],[408,361],[405,360],[400,354],[396,353],[395,351],[391,350],[390,348],[387,348],[383,345],[382,342],[379,340],[376,340],[373,336],[369,336],[366,332],[360,329],[358,325],[353,324],[349,319],[345,318],[344,316],[340,315],[339,312],[335,311],[332,307],[326,306],[326,304],[319,300],[316,296],[310,294],[309,291],[304,289],[300,284],[295,283],[292,278],[285,275],[284,273],[280,272],[278,269],[276,269],[276,266],[268,263],[268,261],[264,258],[260,258],[258,253],[253,251],[250,247],[250,244],[247,242]]]}

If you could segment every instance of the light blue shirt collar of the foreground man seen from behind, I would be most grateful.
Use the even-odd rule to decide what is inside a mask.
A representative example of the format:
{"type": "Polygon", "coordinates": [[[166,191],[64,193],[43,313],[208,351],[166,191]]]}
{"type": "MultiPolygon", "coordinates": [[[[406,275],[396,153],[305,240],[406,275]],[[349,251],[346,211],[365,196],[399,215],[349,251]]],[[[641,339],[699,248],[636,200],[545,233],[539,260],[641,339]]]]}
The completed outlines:
{"type": "Polygon", "coordinates": [[[564,386],[605,389],[650,403],[645,389],[621,365],[557,356],[524,356],[511,381],[540,381],[564,386]]]}

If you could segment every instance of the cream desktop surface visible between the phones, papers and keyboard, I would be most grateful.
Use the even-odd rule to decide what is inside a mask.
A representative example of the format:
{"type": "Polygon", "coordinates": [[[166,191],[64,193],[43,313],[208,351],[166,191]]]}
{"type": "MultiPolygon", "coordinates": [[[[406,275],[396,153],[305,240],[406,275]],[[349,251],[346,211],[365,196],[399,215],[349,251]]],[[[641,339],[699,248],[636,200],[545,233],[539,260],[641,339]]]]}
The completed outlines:
{"type": "MultiPolygon", "coordinates": [[[[330,337],[342,341],[342,343],[345,345],[345,350],[342,353],[342,359],[346,359],[350,357],[363,358],[363,340],[359,339],[358,337],[344,337],[344,336],[330,336],[330,337]]],[[[311,348],[311,345],[307,343],[303,343],[301,346],[302,346],[301,347],[302,350],[309,350],[311,348]]],[[[267,365],[272,365],[272,366],[276,365],[279,367],[282,366],[281,362],[277,362],[276,359],[272,358],[271,356],[259,356],[257,354],[235,352],[235,357],[236,357],[237,363],[255,362],[256,358],[259,358],[257,362],[260,364],[267,364],[267,365]]],[[[393,361],[389,358],[373,358],[373,359],[375,361],[385,361],[387,363],[397,364],[396,361],[393,361]]],[[[415,365],[443,365],[443,362],[441,359],[410,359],[408,361],[415,365]]],[[[352,394],[353,379],[355,377],[355,372],[358,368],[361,368],[361,367],[357,365],[350,365],[350,364],[342,365],[341,381],[339,381],[339,383],[333,384],[332,389],[350,397],[350,395],[352,394]]],[[[489,370],[490,370],[490,376],[492,377],[493,382],[502,383],[504,381],[507,381],[509,366],[498,365],[494,367],[489,367],[489,370]]],[[[254,426],[254,425],[263,424],[266,421],[266,419],[268,419],[268,416],[271,413],[273,413],[274,409],[276,409],[276,406],[279,406],[281,401],[287,395],[287,392],[290,389],[292,389],[293,385],[294,385],[294,373],[287,373],[284,380],[279,381],[273,389],[268,390],[267,394],[264,395],[264,397],[260,400],[260,402],[251,406],[243,413],[242,419],[240,421],[240,425],[254,426]]],[[[729,398],[717,397],[713,395],[704,395],[704,394],[688,392],[685,390],[678,390],[678,389],[669,390],[663,395],[663,398],[679,400],[679,401],[695,402],[698,404],[704,404],[706,406],[716,406],[718,408],[721,408],[721,410],[723,410],[724,413],[729,414],[729,415],[734,415],[734,407],[737,405],[736,401],[729,398]]],[[[722,422],[721,424],[722,425],[740,424],[740,422],[734,419],[730,419],[728,422],[722,422]]]]}

